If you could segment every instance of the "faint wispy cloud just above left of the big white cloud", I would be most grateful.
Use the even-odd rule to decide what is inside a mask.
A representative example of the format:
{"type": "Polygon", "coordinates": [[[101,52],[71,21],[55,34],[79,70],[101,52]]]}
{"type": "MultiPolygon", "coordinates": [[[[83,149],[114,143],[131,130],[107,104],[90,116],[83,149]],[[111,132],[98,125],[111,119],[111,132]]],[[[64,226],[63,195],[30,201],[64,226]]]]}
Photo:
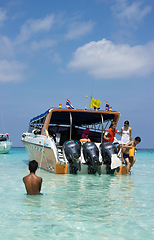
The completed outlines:
{"type": "Polygon", "coordinates": [[[65,35],[66,39],[72,40],[87,35],[92,31],[94,22],[73,22],[68,25],[68,32],[65,35]]]}

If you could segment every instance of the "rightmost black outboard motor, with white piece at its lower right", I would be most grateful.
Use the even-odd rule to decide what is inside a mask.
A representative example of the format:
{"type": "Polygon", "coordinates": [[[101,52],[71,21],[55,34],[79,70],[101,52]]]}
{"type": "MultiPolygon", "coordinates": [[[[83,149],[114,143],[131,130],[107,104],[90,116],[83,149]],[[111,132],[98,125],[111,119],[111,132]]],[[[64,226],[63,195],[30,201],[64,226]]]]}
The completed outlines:
{"type": "Polygon", "coordinates": [[[121,161],[117,157],[117,148],[111,142],[101,143],[100,148],[103,162],[106,164],[106,173],[113,174],[115,169],[121,165],[121,161]],[[114,163],[112,163],[112,159],[114,163]]]}

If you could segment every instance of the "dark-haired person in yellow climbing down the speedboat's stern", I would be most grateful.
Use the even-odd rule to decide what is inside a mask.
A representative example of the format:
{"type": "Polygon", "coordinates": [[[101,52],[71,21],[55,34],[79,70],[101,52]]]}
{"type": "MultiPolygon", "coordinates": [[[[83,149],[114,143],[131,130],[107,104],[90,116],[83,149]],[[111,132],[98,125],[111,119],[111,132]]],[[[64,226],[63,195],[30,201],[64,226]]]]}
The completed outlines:
{"type": "Polygon", "coordinates": [[[128,174],[129,172],[131,172],[131,167],[134,165],[135,163],[135,156],[129,156],[129,149],[136,147],[136,145],[138,143],[141,142],[141,138],[140,137],[136,137],[134,139],[134,141],[130,141],[127,144],[122,144],[122,163],[126,163],[126,174],[128,174]]]}

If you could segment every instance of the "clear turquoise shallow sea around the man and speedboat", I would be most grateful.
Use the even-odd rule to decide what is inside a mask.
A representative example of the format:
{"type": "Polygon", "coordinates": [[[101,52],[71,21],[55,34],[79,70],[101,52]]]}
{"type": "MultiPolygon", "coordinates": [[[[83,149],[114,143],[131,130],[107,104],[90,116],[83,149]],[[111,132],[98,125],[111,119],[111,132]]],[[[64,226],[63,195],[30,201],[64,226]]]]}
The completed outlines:
{"type": "Polygon", "coordinates": [[[38,169],[26,195],[24,148],[0,154],[0,239],[154,239],[154,150],[138,150],[132,174],[56,175],[38,169]]]}

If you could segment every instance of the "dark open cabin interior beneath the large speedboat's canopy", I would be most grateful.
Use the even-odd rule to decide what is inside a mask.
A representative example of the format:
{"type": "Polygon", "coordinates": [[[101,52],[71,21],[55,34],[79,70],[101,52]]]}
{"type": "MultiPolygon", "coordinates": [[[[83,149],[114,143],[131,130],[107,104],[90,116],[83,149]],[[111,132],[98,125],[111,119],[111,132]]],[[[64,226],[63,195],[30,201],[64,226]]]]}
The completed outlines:
{"type": "Polygon", "coordinates": [[[68,139],[80,140],[83,130],[89,128],[89,138],[93,142],[101,142],[106,128],[114,119],[114,114],[96,111],[53,111],[48,133],[55,137],[60,134],[60,145],[68,139]],[[103,132],[102,132],[103,131],[103,132]]]}

